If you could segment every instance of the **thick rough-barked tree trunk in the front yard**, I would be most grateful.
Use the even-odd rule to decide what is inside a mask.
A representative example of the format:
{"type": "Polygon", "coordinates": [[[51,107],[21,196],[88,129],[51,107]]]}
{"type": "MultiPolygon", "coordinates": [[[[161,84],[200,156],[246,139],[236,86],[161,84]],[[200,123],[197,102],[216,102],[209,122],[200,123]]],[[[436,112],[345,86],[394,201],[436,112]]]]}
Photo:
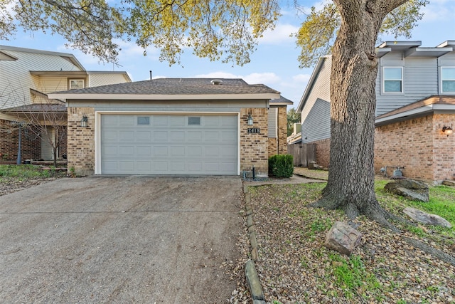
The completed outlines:
{"type": "Polygon", "coordinates": [[[375,43],[385,15],[407,0],[334,0],[341,28],[333,46],[328,183],[316,206],[387,224],[374,191],[375,43]]]}

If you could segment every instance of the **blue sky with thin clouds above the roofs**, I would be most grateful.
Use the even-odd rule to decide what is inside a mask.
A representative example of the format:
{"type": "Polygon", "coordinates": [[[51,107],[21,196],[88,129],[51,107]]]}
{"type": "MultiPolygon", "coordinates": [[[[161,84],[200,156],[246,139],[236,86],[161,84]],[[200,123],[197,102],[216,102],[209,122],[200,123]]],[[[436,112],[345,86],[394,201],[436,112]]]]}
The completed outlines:
{"type": "MultiPolygon", "coordinates": [[[[305,6],[319,6],[320,1],[300,1],[305,6]]],[[[293,1],[284,1],[282,17],[274,31],[265,33],[259,41],[257,51],[252,54],[251,62],[242,67],[231,63],[210,62],[207,59],[193,56],[187,49],[181,57],[181,65],[169,67],[168,63],[160,62],[159,51],[154,48],[144,50],[134,43],[119,44],[119,67],[112,64],[100,64],[97,58],[85,55],[81,51],[65,48],[65,40],[59,36],[43,33],[18,31],[10,41],[0,40],[1,45],[36,48],[45,51],[73,53],[87,70],[125,70],[132,80],[149,79],[152,70],[153,78],[157,77],[208,77],[208,78],[243,78],[247,83],[264,83],[270,88],[279,90],[285,98],[299,104],[304,93],[312,69],[300,69],[297,62],[299,49],[296,48],[295,33],[304,16],[296,15],[293,1]],[[289,3],[289,4],[288,4],[289,3]]],[[[422,46],[437,46],[447,40],[455,40],[455,0],[430,0],[424,8],[424,18],[419,26],[412,31],[412,40],[422,41],[422,46]]],[[[393,37],[383,37],[384,41],[393,41],[393,37]]],[[[398,38],[398,40],[405,40],[398,38]]]]}

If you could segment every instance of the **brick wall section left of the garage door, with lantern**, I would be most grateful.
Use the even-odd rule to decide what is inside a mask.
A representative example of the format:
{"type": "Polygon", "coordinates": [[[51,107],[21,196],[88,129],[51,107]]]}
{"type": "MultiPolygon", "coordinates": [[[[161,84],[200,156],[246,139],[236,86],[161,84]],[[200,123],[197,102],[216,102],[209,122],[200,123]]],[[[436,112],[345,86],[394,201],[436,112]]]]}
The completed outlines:
{"type": "Polygon", "coordinates": [[[79,175],[95,173],[95,110],[68,108],[68,172],[74,168],[79,175]],[[87,115],[87,127],[80,126],[82,114],[87,115]]]}

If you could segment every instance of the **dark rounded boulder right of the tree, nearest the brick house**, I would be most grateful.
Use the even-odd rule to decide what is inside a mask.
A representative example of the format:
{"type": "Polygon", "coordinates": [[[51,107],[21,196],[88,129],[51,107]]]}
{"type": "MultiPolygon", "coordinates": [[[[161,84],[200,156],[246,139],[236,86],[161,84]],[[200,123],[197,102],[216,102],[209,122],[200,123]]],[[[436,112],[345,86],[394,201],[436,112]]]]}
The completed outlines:
{"type": "Polygon", "coordinates": [[[429,187],[414,179],[396,179],[385,185],[384,189],[392,194],[404,196],[414,201],[429,201],[429,187]]]}

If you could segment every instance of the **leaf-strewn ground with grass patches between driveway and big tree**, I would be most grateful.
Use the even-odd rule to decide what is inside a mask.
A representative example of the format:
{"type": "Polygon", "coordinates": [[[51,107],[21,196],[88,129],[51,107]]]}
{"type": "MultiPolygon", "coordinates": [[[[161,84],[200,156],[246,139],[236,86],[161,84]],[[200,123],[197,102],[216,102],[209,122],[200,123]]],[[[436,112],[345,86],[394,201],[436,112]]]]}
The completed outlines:
{"type": "MultiPolygon", "coordinates": [[[[326,179],[328,172],[296,168],[294,173],[326,179]]],[[[249,188],[259,247],[256,268],[267,303],[455,303],[455,267],[402,239],[419,239],[454,256],[454,229],[449,236],[422,239],[410,232],[393,234],[360,216],[352,221],[363,234],[360,246],[350,257],[343,256],[325,248],[323,241],[335,221],[348,221],[346,216],[306,206],[323,186],[249,188]]],[[[242,278],[248,242],[245,229],[238,246],[246,258],[237,261],[241,276],[232,303],[252,303],[242,278]]]]}

